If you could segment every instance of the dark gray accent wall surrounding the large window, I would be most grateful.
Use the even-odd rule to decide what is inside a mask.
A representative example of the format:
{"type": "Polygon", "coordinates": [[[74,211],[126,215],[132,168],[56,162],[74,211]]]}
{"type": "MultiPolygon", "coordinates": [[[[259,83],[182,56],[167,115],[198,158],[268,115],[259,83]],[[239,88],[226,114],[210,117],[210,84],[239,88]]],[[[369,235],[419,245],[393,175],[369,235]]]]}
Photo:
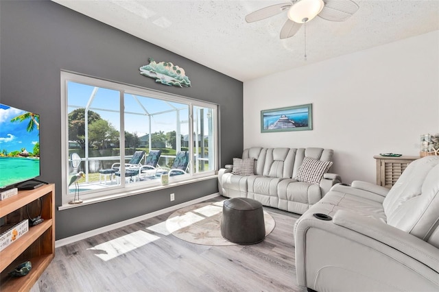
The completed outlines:
{"type": "MultiPolygon", "coordinates": [[[[213,52],[215,53],[215,52],[213,52]]],[[[224,60],[226,62],[226,60],[224,60]]],[[[0,102],[40,114],[40,180],[61,198],[60,71],[67,70],[219,104],[220,165],[243,150],[243,84],[51,1],[0,1],[0,102]],[[148,58],[185,69],[192,87],[139,74],[148,58]]],[[[216,179],[58,211],[56,239],[216,193],[216,179]],[[176,200],[169,202],[169,193],[176,200]]]]}

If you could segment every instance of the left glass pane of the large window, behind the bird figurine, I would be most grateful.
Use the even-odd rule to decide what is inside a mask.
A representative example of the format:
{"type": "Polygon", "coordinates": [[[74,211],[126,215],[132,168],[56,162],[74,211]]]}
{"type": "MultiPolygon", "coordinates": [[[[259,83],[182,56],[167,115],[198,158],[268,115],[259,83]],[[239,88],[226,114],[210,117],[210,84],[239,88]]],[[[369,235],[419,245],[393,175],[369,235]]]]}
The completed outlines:
{"type": "MultiPolygon", "coordinates": [[[[121,161],[119,96],[117,90],[67,82],[69,157],[73,153],[80,157],[71,158],[67,181],[70,184],[72,176],[83,171],[85,178],[78,181],[80,192],[93,190],[99,181],[105,186],[117,185],[115,172],[121,161]]],[[[69,193],[75,193],[75,184],[69,186],[69,193]]]]}

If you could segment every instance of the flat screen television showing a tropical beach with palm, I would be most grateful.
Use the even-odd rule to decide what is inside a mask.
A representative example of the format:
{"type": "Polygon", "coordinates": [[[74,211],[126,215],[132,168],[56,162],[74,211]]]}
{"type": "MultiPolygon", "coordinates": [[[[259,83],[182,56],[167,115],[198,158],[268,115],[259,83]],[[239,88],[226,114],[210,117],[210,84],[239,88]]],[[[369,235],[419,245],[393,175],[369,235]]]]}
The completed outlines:
{"type": "Polygon", "coordinates": [[[0,104],[0,190],[40,175],[40,116],[0,104]]]}

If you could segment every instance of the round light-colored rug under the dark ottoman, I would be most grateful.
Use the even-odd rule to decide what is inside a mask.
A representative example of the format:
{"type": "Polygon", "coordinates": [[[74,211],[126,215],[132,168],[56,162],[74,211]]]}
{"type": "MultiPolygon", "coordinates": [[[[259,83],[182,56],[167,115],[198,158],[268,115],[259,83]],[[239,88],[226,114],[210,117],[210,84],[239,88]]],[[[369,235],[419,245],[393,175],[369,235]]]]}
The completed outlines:
{"type": "MultiPolygon", "coordinates": [[[[200,245],[237,245],[221,236],[221,202],[199,203],[176,210],[166,221],[167,230],[174,236],[200,245]]],[[[265,236],[276,225],[273,217],[263,211],[265,236]]]]}

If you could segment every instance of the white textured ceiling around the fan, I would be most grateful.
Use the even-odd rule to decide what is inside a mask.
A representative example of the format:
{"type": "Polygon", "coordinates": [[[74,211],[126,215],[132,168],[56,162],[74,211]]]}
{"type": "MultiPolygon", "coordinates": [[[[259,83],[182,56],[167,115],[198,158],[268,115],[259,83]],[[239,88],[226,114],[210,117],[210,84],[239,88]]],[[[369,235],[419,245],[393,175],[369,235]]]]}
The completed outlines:
{"type": "Polygon", "coordinates": [[[347,21],[307,23],[305,61],[303,26],[279,39],[286,12],[244,19],[287,0],[53,1],[241,81],[439,29],[439,0],[354,0],[359,10],[347,21]]]}

